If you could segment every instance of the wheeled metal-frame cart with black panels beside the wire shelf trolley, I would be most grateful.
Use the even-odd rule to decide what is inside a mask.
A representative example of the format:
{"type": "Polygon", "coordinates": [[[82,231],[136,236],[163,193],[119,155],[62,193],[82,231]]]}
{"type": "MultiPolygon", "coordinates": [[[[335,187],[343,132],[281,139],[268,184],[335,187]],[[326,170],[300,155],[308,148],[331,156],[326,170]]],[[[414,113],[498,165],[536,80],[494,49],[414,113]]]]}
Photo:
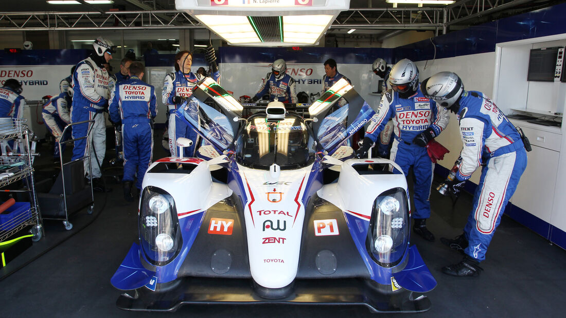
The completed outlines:
{"type": "MultiPolygon", "coordinates": [[[[74,143],[76,140],[87,140],[87,151],[83,158],[72,160],[71,162],[63,162],[63,153],[59,151],[59,159],[61,163],[61,172],[55,180],[55,183],[51,186],[49,193],[38,193],[39,203],[41,207],[41,214],[46,220],[61,220],[65,229],[72,229],[72,224],[69,222],[69,216],[82,210],[82,208],[89,206],[87,208],[87,213],[92,214],[95,208],[95,195],[92,188],[92,181],[89,182],[90,186],[87,186],[87,182],[84,178],[84,159],[88,159],[89,162],[89,176],[92,176],[92,160],[91,160],[91,130],[92,123],[94,119],[79,121],[78,123],[68,124],[65,129],[63,129],[63,136],[67,129],[71,129],[75,125],[91,123],[89,124],[89,129],[87,131],[87,136],[79,137],[75,139],[70,139],[67,141],[59,140],[59,149],[61,149],[62,143],[74,143]]],[[[98,159],[97,159],[98,160],[98,159]]],[[[45,180],[50,181],[50,180],[45,180]]],[[[44,185],[45,186],[45,185],[44,185]]]]}

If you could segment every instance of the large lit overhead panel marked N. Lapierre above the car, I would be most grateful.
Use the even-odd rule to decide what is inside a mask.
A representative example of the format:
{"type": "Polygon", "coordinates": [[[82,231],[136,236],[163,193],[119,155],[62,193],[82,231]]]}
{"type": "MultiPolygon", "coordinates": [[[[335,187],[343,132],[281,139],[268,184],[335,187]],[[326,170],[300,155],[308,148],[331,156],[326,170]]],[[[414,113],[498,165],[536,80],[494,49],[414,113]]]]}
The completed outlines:
{"type": "Polygon", "coordinates": [[[176,0],[230,45],[316,45],[350,0],[176,0]]]}

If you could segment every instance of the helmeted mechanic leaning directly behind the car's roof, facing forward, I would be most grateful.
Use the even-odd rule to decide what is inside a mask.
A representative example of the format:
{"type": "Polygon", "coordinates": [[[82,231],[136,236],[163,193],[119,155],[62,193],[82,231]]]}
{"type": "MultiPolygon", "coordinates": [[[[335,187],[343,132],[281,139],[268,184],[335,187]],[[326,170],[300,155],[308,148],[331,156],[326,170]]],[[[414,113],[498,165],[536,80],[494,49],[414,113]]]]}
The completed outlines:
{"type": "Polygon", "coordinates": [[[265,81],[259,86],[258,93],[251,98],[255,103],[269,92],[269,101],[277,99],[282,103],[297,103],[297,85],[287,72],[287,63],[284,59],[277,59],[271,66],[271,73],[265,75],[265,81]]]}

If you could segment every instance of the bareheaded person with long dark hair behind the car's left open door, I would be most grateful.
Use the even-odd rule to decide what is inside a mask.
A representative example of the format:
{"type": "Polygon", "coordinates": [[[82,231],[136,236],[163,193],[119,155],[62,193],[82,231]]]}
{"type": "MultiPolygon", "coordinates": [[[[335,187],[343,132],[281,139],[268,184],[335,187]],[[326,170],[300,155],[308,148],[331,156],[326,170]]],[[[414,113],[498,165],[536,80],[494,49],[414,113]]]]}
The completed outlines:
{"type": "MultiPolygon", "coordinates": [[[[216,65],[216,54],[214,48],[208,47],[205,54],[208,64],[211,66],[212,79],[218,81],[220,72],[216,65]]],[[[162,101],[168,107],[169,114],[169,151],[171,156],[179,156],[177,138],[185,137],[192,141],[190,147],[185,147],[183,156],[195,156],[198,134],[187,125],[185,119],[175,116],[175,111],[181,104],[192,95],[196,84],[204,79],[203,75],[191,72],[192,54],[189,51],[180,51],[175,55],[175,72],[165,76],[163,83],[162,101]]]]}

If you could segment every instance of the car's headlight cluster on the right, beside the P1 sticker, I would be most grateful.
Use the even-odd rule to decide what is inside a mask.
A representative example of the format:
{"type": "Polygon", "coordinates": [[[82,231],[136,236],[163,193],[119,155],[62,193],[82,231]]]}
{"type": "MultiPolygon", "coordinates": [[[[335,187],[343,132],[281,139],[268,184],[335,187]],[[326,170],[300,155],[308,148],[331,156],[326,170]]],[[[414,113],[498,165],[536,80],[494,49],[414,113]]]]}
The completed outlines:
{"type": "Polygon", "coordinates": [[[405,189],[381,193],[374,201],[366,247],[383,267],[397,265],[409,241],[409,205],[405,189]]]}

